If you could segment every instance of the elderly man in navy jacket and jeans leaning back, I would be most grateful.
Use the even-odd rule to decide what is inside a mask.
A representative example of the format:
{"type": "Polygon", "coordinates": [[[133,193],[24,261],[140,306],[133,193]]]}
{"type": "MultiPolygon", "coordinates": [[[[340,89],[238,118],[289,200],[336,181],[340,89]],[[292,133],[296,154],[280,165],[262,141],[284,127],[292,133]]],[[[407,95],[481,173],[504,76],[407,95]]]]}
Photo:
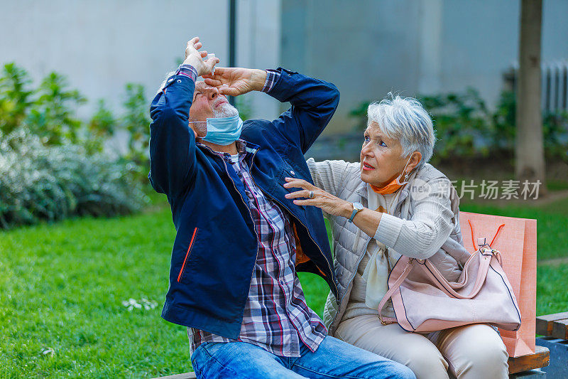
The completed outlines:
{"type": "Polygon", "coordinates": [[[283,68],[217,68],[199,38],[151,105],[151,171],[177,235],[162,316],[187,326],[198,378],[414,378],[327,336],[296,271],[337,294],[322,213],[285,198],[311,181],[303,154],[339,101],[334,85],[283,68]],[[208,74],[209,73],[209,74],[208,74]],[[204,82],[196,82],[197,76],[204,82]],[[242,122],[224,95],[263,91],[292,107],[242,122]]]}

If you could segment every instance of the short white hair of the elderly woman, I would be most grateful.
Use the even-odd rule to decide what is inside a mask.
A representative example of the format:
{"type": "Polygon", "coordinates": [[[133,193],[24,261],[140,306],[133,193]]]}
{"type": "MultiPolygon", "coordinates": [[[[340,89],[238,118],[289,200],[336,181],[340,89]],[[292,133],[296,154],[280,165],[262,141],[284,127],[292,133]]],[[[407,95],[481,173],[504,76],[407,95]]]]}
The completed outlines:
{"type": "Polygon", "coordinates": [[[422,159],[417,165],[418,169],[432,157],[436,134],[430,114],[418,100],[388,92],[385,99],[368,106],[367,116],[367,126],[374,121],[386,137],[400,142],[403,158],[420,151],[422,159]]]}

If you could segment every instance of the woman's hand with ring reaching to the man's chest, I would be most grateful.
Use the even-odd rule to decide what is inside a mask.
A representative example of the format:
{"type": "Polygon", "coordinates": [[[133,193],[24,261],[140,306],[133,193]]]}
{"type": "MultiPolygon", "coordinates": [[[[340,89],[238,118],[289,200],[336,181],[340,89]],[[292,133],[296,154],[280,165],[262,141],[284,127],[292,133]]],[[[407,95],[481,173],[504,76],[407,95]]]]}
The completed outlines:
{"type": "Polygon", "coordinates": [[[337,196],[333,196],[321,188],[308,183],[303,179],[285,178],[286,182],[284,188],[302,188],[300,191],[288,193],[286,198],[297,199],[294,200],[296,205],[313,205],[321,208],[325,213],[330,215],[343,216],[346,218],[351,217],[353,212],[353,205],[349,201],[345,201],[337,196]],[[310,194],[312,193],[312,196],[310,194]],[[310,198],[311,197],[311,198],[310,198]]]}

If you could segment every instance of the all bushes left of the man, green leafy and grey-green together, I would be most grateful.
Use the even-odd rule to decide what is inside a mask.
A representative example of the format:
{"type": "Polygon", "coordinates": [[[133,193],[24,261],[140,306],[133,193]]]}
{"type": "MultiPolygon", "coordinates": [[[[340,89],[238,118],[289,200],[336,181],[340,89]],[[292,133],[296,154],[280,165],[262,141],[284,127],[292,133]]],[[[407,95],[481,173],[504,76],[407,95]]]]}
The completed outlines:
{"type": "Polygon", "coordinates": [[[87,102],[58,73],[33,88],[15,63],[0,75],[0,228],[72,215],[131,213],[146,203],[148,102],[141,85],[126,85],[124,116],[104,100],[89,122],[76,117],[87,102]],[[128,131],[128,153],[111,159],[104,143],[128,131]]]}

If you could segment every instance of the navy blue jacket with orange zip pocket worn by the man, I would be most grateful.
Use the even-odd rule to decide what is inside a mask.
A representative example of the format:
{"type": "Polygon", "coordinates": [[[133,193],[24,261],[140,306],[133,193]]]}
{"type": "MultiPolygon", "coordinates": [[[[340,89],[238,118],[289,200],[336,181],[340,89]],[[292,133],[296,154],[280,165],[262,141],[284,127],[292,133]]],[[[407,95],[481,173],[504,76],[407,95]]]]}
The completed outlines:
{"type": "MultiPolygon", "coordinates": [[[[328,82],[283,68],[269,95],[292,107],[278,119],[244,122],[241,139],[258,147],[251,176],[266,196],[287,210],[297,241],[309,258],[297,271],[320,274],[337,296],[332,254],[320,208],[294,205],[286,176],[313,183],[304,159],[337,108],[339,92],[328,82]]],[[[237,338],[258,251],[244,185],[222,157],[188,127],[195,82],[173,77],[151,105],[150,178],[165,193],[177,232],[170,288],[162,317],[219,336],[237,338]]]]}

